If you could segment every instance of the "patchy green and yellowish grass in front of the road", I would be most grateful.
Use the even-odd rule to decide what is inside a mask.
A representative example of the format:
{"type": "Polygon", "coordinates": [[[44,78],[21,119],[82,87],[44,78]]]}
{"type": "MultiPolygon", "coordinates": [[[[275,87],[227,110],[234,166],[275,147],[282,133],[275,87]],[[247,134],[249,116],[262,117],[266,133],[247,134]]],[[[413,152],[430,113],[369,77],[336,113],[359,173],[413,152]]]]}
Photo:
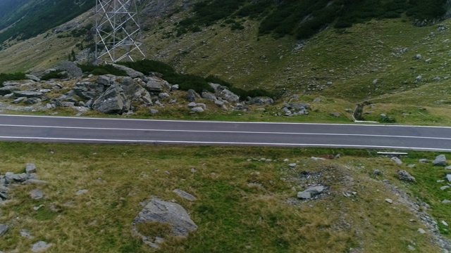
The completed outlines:
{"type": "MultiPolygon", "coordinates": [[[[419,171],[427,168],[418,167],[418,172],[409,170],[418,186],[404,186],[395,179],[398,165],[376,157],[376,150],[4,142],[0,152],[2,174],[23,171],[26,162],[34,162],[39,178],[48,182],[12,188],[12,200],[0,212],[0,223],[14,220],[2,236],[3,251],[26,251],[35,240],[53,243],[49,252],[346,252],[350,248],[404,252],[410,240],[421,252],[438,251],[427,235],[416,231],[421,223],[409,222],[416,218],[407,207],[383,201],[396,200],[396,195],[385,188],[383,178],[373,178],[368,171],[383,170],[385,178],[404,190],[413,187],[412,193],[431,205],[441,197],[432,187],[435,176],[426,177],[424,172],[422,177],[419,171]],[[337,153],[340,160],[309,159],[337,153]],[[261,157],[273,162],[260,162],[261,157]],[[299,166],[290,169],[282,162],[285,158],[299,166]],[[191,168],[197,171],[192,173],[191,168]],[[296,195],[293,187],[303,190],[314,183],[300,179],[302,171],[321,173],[319,180],[330,188],[329,194],[321,200],[289,204],[296,195]],[[42,200],[30,199],[28,192],[34,188],[44,191],[42,200]],[[174,188],[197,200],[178,197],[172,193],[174,188]],[[88,192],[75,195],[80,189],[88,192]],[[357,195],[347,198],[343,191],[357,195]],[[185,207],[198,230],[187,239],[166,236],[161,249],[143,245],[132,235],[130,224],[142,209],[140,202],[150,195],[185,207]],[[39,205],[43,206],[38,211],[32,210],[39,205]],[[51,205],[58,211],[52,211],[51,205]],[[20,237],[23,228],[35,239],[20,237]]],[[[433,155],[409,153],[405,162],[433,155]]],[[[434,206],[431,212],[439,219],[450,216],[445,208],[434,206]]],[[[166,231],[164,226],[140,229],[149,234],[166,231]]]]}

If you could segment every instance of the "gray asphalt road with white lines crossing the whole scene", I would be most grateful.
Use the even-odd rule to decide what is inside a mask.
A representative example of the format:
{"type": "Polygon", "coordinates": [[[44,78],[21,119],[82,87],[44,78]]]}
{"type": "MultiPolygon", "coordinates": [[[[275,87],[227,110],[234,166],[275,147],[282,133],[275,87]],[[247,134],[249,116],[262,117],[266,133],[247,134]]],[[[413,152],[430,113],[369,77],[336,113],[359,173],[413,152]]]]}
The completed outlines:
{"type": "Polygon", "coordinates": [[[451,127],[0,115],[0,141],[451,151],[451,127]]]}

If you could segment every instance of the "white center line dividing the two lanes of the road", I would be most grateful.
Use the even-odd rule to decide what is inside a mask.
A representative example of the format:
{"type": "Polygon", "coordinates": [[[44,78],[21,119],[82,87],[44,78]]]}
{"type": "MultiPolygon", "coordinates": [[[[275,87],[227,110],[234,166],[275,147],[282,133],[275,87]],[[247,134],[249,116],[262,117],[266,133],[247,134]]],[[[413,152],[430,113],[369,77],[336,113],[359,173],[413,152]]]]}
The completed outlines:
{"type": "Polygon", "coordinates": [[[174,129],[125,129],[113,127],[85,127],[85,126],[30,126],[17,124],[0,124],[8,127],[49,128],[49,129],[82,129],[103,131],[163,131],[181,133],[210,133],[210,134],[288,134],[288,135],[318,135],[318,136],[363,136],[363,137],[393,137],[393,138],[424,138],[435,140],[450,140],[451,138],[428,137],[428,136],[393,136],[383,134],[328,134],[328,133],[299,133],[299,132],[271,132],[271,131],[213,131],[213,130],[174,130],[174,129]]]}

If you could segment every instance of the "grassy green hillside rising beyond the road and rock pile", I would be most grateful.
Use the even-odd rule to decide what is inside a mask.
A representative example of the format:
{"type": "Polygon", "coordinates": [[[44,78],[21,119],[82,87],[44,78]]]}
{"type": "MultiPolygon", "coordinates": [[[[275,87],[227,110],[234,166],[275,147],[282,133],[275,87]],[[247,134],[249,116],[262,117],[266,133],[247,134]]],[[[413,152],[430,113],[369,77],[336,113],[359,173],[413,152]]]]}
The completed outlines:
{"type": "MultiPolygon", "coordinates": [[[[147,3],[142,6],[144,51],[180,77],[215,77],[234,89],[266,90],[285,101],[294,95],[306,102],[320,96],[321,110],[343,112],[367,101],[375,105],[364,108],[369,120],[384,113],[398,123],[450,124],[451,25],[440,16],[431,18],[443,13],[441,1],[368,1],[368,15],[349,14],[356,17],[352,26],[336,28],[345,13],[358,6],[357,1],[342,1],[348,8],[340,9],[333,23],[309,39],[297,39],[295,29],[285,35],[262,30],[265,20],[290,2],[193,1],[191,8],[180,8],[183,1],[178,0],[167,5],[147,3]],[[374,10],[385,8],[379,4],[388,2],[392,4],[386,8],[400,6],[396,12],[400,18],[375,14],[382,12],[374,10]],[[212,10],[221,3],[223,8],[215,16],[212,10]],[[424,24],[433,25],[417,27],[416,18],[428,18],[424,24]],[[338,106],[342,102],[351,106],[338,106]]],[[[93,23],[92,13],[85,13],[65,25],[78,24],[70,30],[48,31],[0,51],[0,72],[44,70],[68,58],[86,65],[92,60],[92,37],[86,34],[93,23]]],[[[309,117],[299,120],[319,120],[309,117]]]]}

